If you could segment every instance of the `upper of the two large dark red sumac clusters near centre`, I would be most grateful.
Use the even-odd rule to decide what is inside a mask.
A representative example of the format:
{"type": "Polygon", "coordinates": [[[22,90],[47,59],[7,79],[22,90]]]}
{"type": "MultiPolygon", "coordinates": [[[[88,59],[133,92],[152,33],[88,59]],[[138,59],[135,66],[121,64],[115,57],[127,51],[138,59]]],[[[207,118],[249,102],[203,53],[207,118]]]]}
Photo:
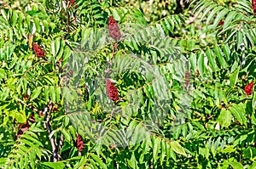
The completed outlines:
{"type": "Polygon", "coordinates": [[[110,37],[112,37],[115,41],[117,41],[121,38],[121,33],[119,31],[119,25],[115,20],[113,20],[112,16],[109,16],[107,27],[108,27],[110,37]]]}

